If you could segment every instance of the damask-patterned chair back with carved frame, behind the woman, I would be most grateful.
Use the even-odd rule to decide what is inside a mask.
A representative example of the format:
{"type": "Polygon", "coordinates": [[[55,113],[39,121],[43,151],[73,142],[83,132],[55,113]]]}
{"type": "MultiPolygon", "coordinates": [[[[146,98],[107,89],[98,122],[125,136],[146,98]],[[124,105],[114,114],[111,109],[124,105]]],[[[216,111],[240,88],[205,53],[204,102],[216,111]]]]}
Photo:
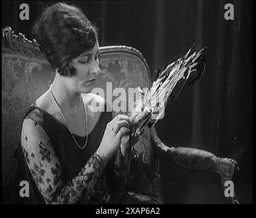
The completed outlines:
{"type": "MultiPolygon", "coordinates": [[[[149,87],[150,72],[147,62],[138,50],[126,46],[100,48],[100,69],[95,87],[104,90],[113,101],[119,97],[118,89],[149,87]],[[108,84],[108,86],[106,86],[108,84]],[[111,89],[113,95],[109,93],[111,89]],[[116,93],[117,91],[117,93],[116,93]],[[117,95],[117,96],[115,96],[117,95]]],[[[55,73],[40,52],[38,44],[24,35],[14,35],[12,29],[2,30],[2,163],[3,187],[8,185],[10,161],[18,140],[20,125],[27,108],[44,93],[55,73]]],[[[128,98],[128,95],[126,95],[128,98]]],[[[128,109],[128,105],[126,105],[128,109]]],[[[127,110],[126,110],[127,111],[127,110]]],[[[113,112],[116,116],[119,112],[113,112]]],[[[122,112],[126,113],[127,112],[122,112]]],[[[152,171],[150,131],[145,130],[140,142],[134,146],[141,167],[152,171]]],[[[149,173],[150,173],[149,172],[149,173]]],[[[135,176],[136,177],[136,176],[135,176]]],[[[137,185],[135,189],[143,189],[137,185]]],[[[133,190],[136,191],[136,190],[133,190]]],[[[140,190],[141,191],[141,190],[140,190]]]]}

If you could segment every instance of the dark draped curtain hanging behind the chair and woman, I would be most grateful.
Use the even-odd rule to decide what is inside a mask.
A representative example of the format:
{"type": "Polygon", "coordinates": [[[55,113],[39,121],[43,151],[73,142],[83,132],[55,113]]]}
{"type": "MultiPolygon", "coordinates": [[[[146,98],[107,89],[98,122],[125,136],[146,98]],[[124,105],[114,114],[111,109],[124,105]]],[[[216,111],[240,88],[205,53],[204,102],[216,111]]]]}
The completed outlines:
{"type": "MultiPolygon", "coordinates": [[[[10,26],[32,39],[31,27],[45,5],[57,1],[2,1],[2,28],[10,26]],[[20,20],[20,3],[30,20],[20,20]]],[[[183,55],[190,46],[207,46],[201,79],[169,102],[158,136],[169,146],[187,146],[240,163],[235,189],[241,202],[252,202],[253,60],[252,1],[158,0],[65,1],[83,9],[99,28],[100,46],[137,48],[154,70],[183,55]],[[225,20],[233,3],[234,20],[225,20]]],[[[166,203],[225,202],[209,174],[195,174],[161,160],[166,203]],[[209,182],[210,181],[210,182],[209,182]]]]}

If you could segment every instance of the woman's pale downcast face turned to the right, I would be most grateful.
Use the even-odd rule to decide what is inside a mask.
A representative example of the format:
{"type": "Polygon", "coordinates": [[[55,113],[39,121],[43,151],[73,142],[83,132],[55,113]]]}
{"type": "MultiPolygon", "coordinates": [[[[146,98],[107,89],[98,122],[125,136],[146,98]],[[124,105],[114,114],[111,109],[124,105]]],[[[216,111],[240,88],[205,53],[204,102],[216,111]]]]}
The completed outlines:
{"type": "Polygon", "coordinates": [[[87,52],[83,52],[79,57],[71,61],[71,64],[76,68],[76,74],[72,77],[67,77],[68,87],[78,93],[89,93],[94,87],[94,82],[100,72],[99,68],[99,51],[100,47],[98,40],[94,48],[87,52]]]}

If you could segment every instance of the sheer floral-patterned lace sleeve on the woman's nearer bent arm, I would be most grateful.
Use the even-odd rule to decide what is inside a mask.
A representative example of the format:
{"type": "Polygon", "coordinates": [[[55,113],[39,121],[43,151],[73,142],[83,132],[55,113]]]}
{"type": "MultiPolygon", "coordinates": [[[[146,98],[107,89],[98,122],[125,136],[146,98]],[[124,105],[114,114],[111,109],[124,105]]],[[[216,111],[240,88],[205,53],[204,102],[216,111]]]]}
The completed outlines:
{"type": "Polygon", "coordinates": [[[61,181],[61,166],[50,138],[44,129],[33,119],[25,119],[20,142],[27,166],[46,204],[75,204],[82,191],[85,198],[93,191],[103,164],[94,153],[81,171],[68,185],[61,181]]]}

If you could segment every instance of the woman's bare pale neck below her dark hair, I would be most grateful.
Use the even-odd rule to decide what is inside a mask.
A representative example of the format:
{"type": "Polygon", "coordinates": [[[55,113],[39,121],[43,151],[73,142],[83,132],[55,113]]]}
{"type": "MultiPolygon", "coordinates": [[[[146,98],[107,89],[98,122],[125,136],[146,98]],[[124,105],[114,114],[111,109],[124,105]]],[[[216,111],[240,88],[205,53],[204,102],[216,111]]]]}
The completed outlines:
{"type": "Polygon", "coordinates": [[[81,93],[70,89],[66,84],[66,80],[58,73],[56,73],[53,83],[51,84],[51,91],[57,103],[62,108],[75,108],[81,104],[81,93]]]}

